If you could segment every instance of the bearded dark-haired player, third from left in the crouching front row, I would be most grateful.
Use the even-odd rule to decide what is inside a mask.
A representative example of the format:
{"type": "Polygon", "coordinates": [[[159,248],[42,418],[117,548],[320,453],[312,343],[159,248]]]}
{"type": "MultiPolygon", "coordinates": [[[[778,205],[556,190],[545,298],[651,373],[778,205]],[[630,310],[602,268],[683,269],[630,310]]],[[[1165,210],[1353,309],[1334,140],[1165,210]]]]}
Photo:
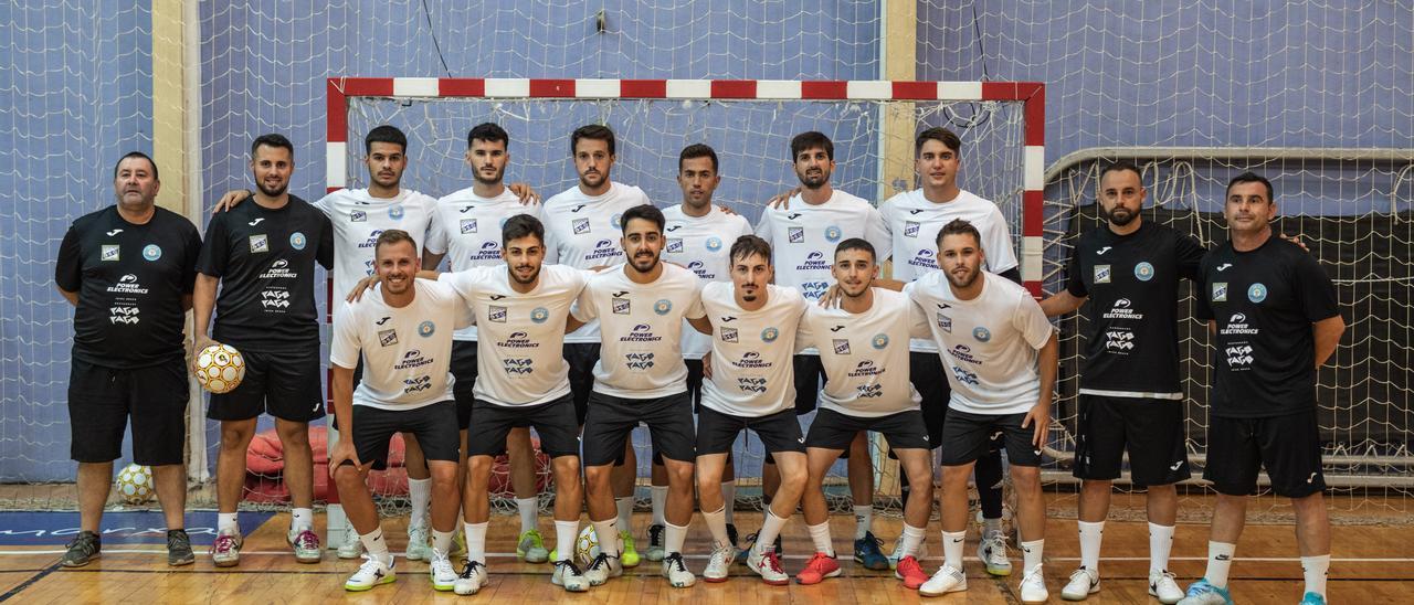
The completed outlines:
{"type": "Polygon", "coordinates": [[[601,539],[600,554],[584,575],[600,585],[624,572],[609,474],[633,428],[643,423],[653,450],[662,454],[669,482],[662,575],[673,587],[686,588],[696,581],[682,551],[693,517],[697,455],[682,336],[684,319],[704,315],[701,280],[689,269],[660,260],[662,211],[633,206],[622,222],[619,245],[628,262],[591,277],[574,311],[580,321],[598,319],[604,335],[583,438],[585,500],[601,539]]]}

